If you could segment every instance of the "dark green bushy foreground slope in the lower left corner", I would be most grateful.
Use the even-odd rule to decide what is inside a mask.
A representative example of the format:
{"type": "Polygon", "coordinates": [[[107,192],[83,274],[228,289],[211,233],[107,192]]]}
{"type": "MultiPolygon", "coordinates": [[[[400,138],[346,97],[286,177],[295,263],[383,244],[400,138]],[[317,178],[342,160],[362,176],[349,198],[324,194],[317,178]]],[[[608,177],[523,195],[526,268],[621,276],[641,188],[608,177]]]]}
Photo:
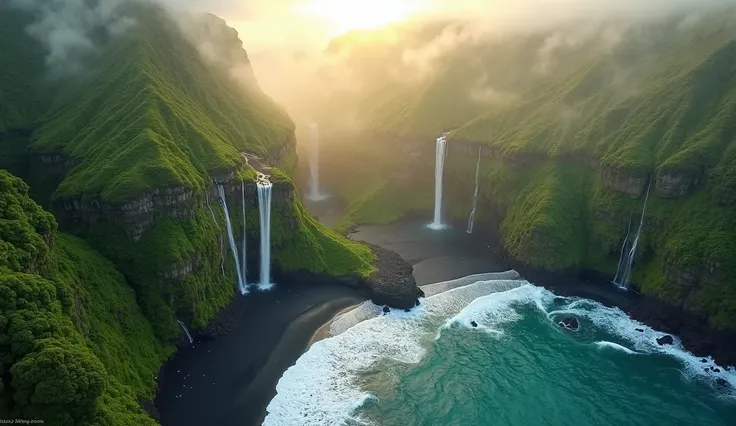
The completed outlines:
{"type": "Polygon", "coordinates": [[[167,350],[123,276],[83,241],[55,234],[53,217],[4,171],[0,199],[0,362],[9,384],[0,416],[155,424],[139,401],[153,396],[167,350]]]}

